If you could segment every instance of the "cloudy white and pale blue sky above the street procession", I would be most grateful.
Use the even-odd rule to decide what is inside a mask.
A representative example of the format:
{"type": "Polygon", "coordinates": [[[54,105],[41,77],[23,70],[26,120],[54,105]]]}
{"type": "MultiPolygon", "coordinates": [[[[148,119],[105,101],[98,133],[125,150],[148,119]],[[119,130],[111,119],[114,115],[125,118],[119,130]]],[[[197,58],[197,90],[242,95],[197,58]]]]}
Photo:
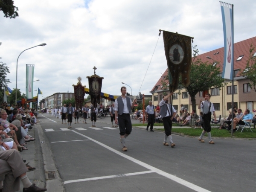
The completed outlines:
{"type": "MultiPolygon", "coordinates": [[[[256,1],[226,3],[234,5],[234,42],[254,37],[256,1]]],[[[19,17],[0,12],[0,61],[9,67],[8,87],[13,89],[19,54],[46,43],[18,59],[17,88],[25,93],[26,64],[34,64],[40,100],[56,92],[73,93],[79,76],[88,87],[86,77],[94,74],[94,66],[104,77],[102,92],[120,95],[124,82],[131,87],[126,86],[128,93],[150,95],[167,69],[159,29],[194,37],[199,54],[224,47],[218,0],[14,0],[14,5],[19,17]]]]}

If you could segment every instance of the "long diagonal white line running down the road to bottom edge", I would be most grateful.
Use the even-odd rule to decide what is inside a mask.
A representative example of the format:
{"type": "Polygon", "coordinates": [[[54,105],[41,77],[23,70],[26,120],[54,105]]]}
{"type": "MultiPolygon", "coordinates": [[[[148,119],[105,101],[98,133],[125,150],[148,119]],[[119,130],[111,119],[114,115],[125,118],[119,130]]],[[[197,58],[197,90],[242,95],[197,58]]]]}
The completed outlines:
{"type": "MultiPolygon", "coordinates": [[[[71,131],[73,131],[73,130],[71,130],[71,131]]],[[[143,162],[140,161],[140,160],[137,160],[137,159],[135,159],[135,158],[133,158],[133,157],[130,157],[130,156],[126,155],[126,154],[123,154],[123,153],[121,153],[120,151],[117,151],[117,150],[115,150],[115,149],[109,147],[108,145],[105,145],[105,144],[103,144],[103,143],[100,143],[99,141],[96,141],[96,140],[94,140],[94,139],[92,139],[92,138],[90,138],[90,137],[87,137],[87,136],[85,136],[85,135],[83,135],[83,134],[81,134],[81,133],[79,133],[79,132],[76,132],[76,131],[73,131],[73,132],[76,133],[76,134],[79,134],[79,135],[81,135],[82,137],[85,137],[85,138],[87,138],[87,139],[89,139],[89,140],[92,140],[93,142],[95,142],[95,143],[101,145],[102,147],[105,147],[105,148],[107,148],[108,150],[110,150],[110,151],[112,151],[112,152],[114,152],[114,153],[116,153],[116,154],[118,154],[118,155],[120,155],[120,156],[122,156],[122,157],[124,157],[124,158],[126,158],[126,159],[128,159],[128,160],[130,160],[130,161],[132,161],[132,162],[134,162],[134,163],[137,163],[137,164],[140,165],[140,166],[145,167],[146,169],[149,169],[149,170],[151,170],[151,171],[153,171],[153,172],[156,172],[156,173],[159,174],[159,175],[162,175],[162,176],[167,177],[167,178],[169,178],[169,179],[171,179],[171,180],[173,180],[173,181],[175,181],[175,182],[177,182],[177,183],[180,183],[180,184],[183,185],[183,186],[186,186],[186,187],[188,187],[188,188],[190,188],[190,189],[193,189],[193,190],[195,190],[195,191],[197,191],[197,192],[210,192],[210,191],[208,191],[207,189],[204,189],[204,188],[202,188],[202,187],[200,187],[200,186],[197,186],[197,185],[195,185],[195,184],[193,184],[193,183],[190,183],[190,182],[188,182],[188,181],[186,181],[186,180],[183,180],[183,179],[181,179],[181,178],[179,178],[179,177],[176,177],[176,176],[171,175],[171,174],[169,174],[169,173],[166,173],[166,172],[164,172],[164,171],[162,171],[162,170],[160,170],[160,169],[157,169],[157,168],[155,168],[155,167],[153,167],[153,166],[151,166],[151,165],[148,165],[148,164],[146,164],[146,163],[143,163],[143,162]]]]}

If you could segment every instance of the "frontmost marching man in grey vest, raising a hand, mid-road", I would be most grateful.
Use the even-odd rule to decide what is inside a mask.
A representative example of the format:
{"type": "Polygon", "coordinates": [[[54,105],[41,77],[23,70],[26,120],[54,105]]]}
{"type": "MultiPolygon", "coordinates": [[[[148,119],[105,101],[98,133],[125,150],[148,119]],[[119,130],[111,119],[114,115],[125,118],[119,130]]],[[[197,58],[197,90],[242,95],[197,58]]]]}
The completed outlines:
{"type": "Polygon", "coordinates": [[[131,118],[130,113],[137,99],[131,102],[131,98],[126,96],[126,87],[121,87],[122,95],[116,98],[115,101],[115,123],[117,124],[117,115],[120,130],[120,141],[122,144],[122,151],[127,151],[125,147],[125,138],[131,134],[131,118]]]}

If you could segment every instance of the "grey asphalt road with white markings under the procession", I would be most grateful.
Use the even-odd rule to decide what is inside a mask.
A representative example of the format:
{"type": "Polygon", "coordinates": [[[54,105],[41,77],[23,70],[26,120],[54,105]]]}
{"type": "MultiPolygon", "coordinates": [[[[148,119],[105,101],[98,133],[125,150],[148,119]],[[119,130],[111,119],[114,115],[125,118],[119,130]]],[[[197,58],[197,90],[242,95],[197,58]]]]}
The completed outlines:
{"type": "Polygon", "coordinates": [[[215,139],[210,145],[207,138],[200,143],[173,135],[176,146],[171,148],[163,145],[164,133],[133,128],[123,152],[119,129],[112,129],[110,118],[97,120],[97,130],[90,128],[89,119],[71,129],[47,114],[40,120],[65,192],[256,189],[256,140],[215,139]]]}

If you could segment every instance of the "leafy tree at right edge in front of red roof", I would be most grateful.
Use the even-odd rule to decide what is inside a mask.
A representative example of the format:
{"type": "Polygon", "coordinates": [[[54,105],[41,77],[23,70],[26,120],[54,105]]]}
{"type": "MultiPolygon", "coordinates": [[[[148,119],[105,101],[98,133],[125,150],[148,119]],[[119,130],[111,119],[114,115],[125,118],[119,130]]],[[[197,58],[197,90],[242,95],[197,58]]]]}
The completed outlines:
{"type": "Polygon", "coordinates": [[[250,56],[247,60],[246,67],[240,70],[240,75],[249,79],[248,83],[251,89],[256,92],[256,56],[253,56],[253,45],[250,46],[250,56]]]}

